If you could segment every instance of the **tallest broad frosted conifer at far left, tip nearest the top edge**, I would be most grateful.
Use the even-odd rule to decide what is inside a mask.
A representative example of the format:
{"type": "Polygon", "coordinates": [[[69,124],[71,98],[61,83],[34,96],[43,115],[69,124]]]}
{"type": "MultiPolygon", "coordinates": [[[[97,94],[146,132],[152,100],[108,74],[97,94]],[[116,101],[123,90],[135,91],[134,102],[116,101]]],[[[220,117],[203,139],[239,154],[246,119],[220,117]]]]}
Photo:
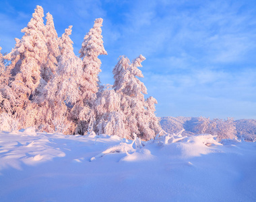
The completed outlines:
{"type": "Polygon", "coordinates": [[[24,36],[21,40],[15,39],[15,48],[7,55],[11,59],[10,68],[14,77],[11,87],[30,100],[46,85],[42,78],[46,74],[44,66],[48,55],[43,17],[42,7],[36,6],[28,26],[22,29],[24,36]]]}

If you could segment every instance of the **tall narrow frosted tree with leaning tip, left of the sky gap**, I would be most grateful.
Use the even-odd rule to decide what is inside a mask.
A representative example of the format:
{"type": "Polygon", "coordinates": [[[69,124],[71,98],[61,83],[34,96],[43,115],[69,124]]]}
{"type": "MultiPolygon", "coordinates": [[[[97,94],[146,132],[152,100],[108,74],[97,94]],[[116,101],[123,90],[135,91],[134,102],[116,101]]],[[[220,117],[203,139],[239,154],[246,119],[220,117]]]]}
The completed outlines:
{"type": "Polygon", "coordinates": [[[107,55],[101,35],[102,22],[102,18],[95,20],[94,27],[84,37],[82,48],[79,50],[83,68],[82,81],[79,86],[82,96],[73,107],[72,114],[80,120],[77,132],[81,134],[88,131],[89,125],[94,123],[96,116],[94,101],[98,92],[98,74],[101,71],[101,61],[98,56],[107,55]]]}

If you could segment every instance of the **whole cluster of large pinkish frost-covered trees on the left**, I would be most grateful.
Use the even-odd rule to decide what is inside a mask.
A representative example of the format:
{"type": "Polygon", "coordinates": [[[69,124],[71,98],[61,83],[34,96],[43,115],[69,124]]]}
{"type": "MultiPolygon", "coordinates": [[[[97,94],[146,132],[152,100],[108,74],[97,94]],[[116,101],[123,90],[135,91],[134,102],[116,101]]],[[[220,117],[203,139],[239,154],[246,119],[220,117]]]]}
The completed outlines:
{"type": "Polygon", "coordinates": [[[69,37],[72,26],[58,37],[53,16],[46,14],[46,24],[43,17],[36,6],[11,53],[0,53],[1,130],[33,126],[49,133],[154,138],[161,131],[154,114],[157,101],[144,98],[147,89],[138,79],[145,57],[119,57],[113,86],[102,86],[103,20],[95,20],[77,57],[69,37]]]}

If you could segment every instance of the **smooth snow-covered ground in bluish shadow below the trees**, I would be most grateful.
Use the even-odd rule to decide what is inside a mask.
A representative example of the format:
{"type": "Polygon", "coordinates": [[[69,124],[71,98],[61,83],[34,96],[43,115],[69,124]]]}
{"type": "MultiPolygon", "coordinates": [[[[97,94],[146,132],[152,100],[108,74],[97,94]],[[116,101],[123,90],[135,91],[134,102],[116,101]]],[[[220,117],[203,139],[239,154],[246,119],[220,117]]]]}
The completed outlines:
{"type": "Polygon", "coordinates": [[[256,143],[29,128],[0,133],[0,173],[0,201],[256,201],[256,143]]]}

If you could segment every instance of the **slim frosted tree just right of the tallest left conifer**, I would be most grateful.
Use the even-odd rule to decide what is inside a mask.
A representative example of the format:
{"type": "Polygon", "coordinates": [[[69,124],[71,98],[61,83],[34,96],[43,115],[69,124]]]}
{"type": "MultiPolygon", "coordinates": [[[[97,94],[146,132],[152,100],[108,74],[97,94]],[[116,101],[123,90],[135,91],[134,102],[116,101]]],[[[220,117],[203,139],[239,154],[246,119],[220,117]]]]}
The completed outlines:
{"type": "Polygon", "coordinates": [[[46,37],[46,45],[48,48],[48,55],[46,57],[45,64],[45,75],[44,80],[48,82],[57,69],[57,57],[61,54],[59,50],[59,38],[57,32],[55,30],[53,15],[50,13],[46,14],[46,25],[45,25],[45,37],[46,37]]]}

